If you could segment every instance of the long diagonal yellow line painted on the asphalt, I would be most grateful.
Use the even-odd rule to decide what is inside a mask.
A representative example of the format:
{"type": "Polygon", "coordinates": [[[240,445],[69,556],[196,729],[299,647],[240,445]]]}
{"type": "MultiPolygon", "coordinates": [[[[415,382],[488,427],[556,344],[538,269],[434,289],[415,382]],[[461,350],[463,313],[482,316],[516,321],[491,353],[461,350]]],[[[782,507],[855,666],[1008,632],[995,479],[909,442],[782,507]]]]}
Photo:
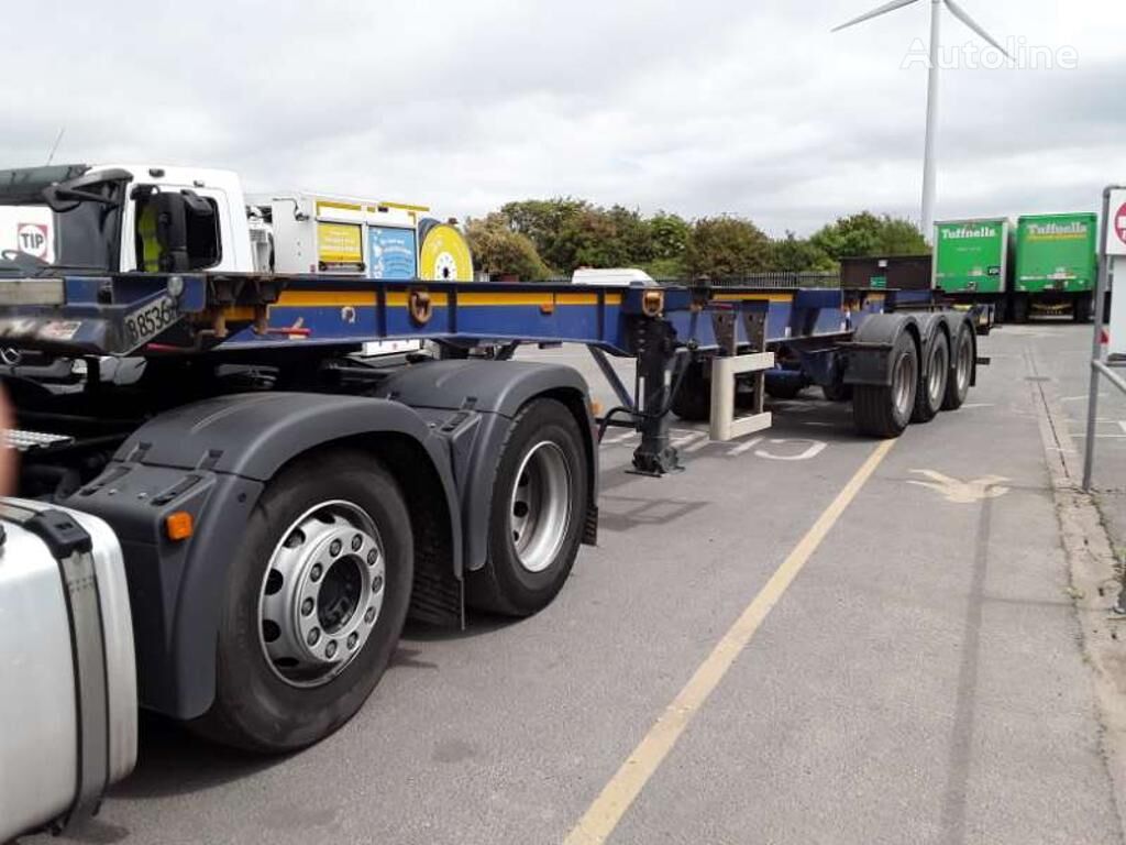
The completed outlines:
{"type": "Polygon", "coordinates": [[[884,441],[849,479],[828,508],[817,517],[813,527],[798,542],[781,566],[770,576],[770,580],[747,606],[735,623],[712,649],[696,674],[664,709],[649,733],[622,764],[610,782],[599,793],[579,824],[571,829],[564,845],[600,845],[614,833],[626,810],[634,802],[645,784],[656,772],[662,760],[680,739],[692,717],[723,681],[735,658],[754,637],[759,625],[774,610],[783,594],[808,562],[813,552],[825,539],[844,509],[872,478],[879,463],[891,452],[895,441],[884,441]]]}

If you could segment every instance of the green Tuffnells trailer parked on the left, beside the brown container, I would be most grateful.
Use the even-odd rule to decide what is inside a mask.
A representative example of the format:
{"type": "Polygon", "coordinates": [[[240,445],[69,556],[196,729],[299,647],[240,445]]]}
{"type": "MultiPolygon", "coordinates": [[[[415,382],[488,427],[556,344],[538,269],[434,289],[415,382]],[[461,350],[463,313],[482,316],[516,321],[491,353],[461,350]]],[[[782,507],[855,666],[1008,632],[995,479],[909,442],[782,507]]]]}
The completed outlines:
{"type": "Polygon", "coordinates": [[[992,303],[994,319],[1000,321],[1008,290],[1011,231],[1007,217],[936,223],[931,287],[956,303],[992,303]]]}

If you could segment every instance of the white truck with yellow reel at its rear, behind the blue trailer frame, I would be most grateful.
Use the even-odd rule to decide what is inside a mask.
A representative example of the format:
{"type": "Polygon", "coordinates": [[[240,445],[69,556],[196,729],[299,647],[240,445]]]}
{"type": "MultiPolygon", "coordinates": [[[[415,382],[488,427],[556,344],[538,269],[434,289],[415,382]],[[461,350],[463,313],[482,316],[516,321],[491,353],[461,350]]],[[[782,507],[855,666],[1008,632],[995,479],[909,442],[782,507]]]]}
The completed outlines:
{"type": "Polygon", "coordinates": [[[0,269],[7,263],[110,273],[473,279],[472,256],[456,223],[427,216],[427,206],[309,192],[247,197],[232,170],[143,163],[34,168],[20,171],[20,181],[0,185],[3,206],[0,269]],[[146,267],[143,255],[149,204],[173,223],[161,237],[175,231],[184,241],[163,244],[159,268],[146,267]]]}

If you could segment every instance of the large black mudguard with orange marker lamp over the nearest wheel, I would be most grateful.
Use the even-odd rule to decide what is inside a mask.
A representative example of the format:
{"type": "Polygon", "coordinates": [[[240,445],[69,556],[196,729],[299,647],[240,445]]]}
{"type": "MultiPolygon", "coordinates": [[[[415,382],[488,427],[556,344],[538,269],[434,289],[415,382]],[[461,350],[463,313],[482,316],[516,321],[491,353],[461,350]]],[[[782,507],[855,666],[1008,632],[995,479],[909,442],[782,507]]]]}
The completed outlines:
{"type": "Polygon", "coordinates": [[[445,490],[448,566],[461,577],[461,517],[445,441],[410,408],[383,399],[251,393],[208,399],[155,417],[65,505],[106,519],[128,570],[142,703],[178,719],[202,715],[215,694],[215,638],[226,566],[266,483],[289,460],[349,437],[417,442],[445,490]],[[194,516],[172,542],[168,514],[194,516]]]}

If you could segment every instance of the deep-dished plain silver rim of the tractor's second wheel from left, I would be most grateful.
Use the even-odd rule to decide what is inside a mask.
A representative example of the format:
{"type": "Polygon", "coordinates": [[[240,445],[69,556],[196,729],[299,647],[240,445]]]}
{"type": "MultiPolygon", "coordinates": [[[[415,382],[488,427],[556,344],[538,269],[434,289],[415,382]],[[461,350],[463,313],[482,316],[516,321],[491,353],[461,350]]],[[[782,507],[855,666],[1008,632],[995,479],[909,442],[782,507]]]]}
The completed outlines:
{"type": "Polygon", "coordinates": [[[520,566],[529,572],[547,569],[571,524],[571,466],[557,444],[542,441],[528,450],[516,473],[508,515],[520,566]]]}

